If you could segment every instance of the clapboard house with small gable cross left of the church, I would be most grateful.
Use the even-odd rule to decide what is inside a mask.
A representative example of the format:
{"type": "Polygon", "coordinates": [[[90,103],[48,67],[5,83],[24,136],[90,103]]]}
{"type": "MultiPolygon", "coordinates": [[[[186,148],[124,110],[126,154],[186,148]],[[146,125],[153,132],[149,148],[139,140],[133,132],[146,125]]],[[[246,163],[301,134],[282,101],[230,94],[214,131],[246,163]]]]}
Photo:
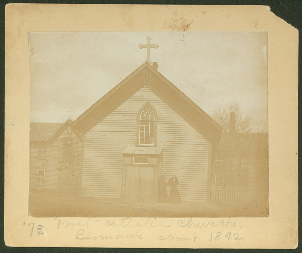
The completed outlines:
{"type": "Polygon", "coordinates": [[[81,136],[61,123],[30,123],[30,189],[77,193],[81,136]]]}

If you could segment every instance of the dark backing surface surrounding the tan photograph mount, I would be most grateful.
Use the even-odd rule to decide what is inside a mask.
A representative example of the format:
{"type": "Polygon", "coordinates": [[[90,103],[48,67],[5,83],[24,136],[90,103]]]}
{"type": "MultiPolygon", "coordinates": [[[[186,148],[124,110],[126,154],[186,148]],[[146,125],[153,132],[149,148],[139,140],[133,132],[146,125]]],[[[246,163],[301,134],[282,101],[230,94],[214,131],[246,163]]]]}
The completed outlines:
{"type": "MultiPolygon", "coordinates": [[[[286,22],[291,24],[292,26],[296,27],[298,30],[301,28],[302,24],[302,0],[216,0],[216,1],[180,1],[180,0],[172,0],[172,1],[114,1],[114,0],[107,0],[107,1],[81,1],[81,0],[56,0],[56,1],[2,1],[1,2],[1,9],[0,9],[0,29],[2,36],[0,37],[0,45],[1,45],[1,85],[0,85],[0,92],[2,94],[1,100],[1,119],[2,119],[2,134],[0,135],[0,140],[2,142],[2,156],[1,156],[1,199],[2,199],[2,208],[1,210],[1,227],[0,229],[0,238],[1,238],[1,245],[0,245],[0,252],[104,252],[104,253],[111,253],[111,252],[302,252],[302,246],[298,246],[298,248],[294,250],[276,250],[276,249],[125,249],[125,248],[23,248],[23,247],[6,247],[4,243],[4,28],[5,28],[5,4],[7,3],[49,3],[49,4],[162,4],[162,5],[268,5],[271,8],[271,11],[276,14],[278,17],[281,17],[286,22]]],[[[301,34],[299,33],[299,55],[301,55],[301,34]]],[[[299,57],[299,67],[301,67],[301,59],[299,57]]],[[[300,70],[300,68],[299,68],[300,70]]],[[[301,71],[299,71],[299,80],[301,79],[301,71]]],[[[299,82],[300,83],[300,82],[299,82]]],[[[298,98],[301,97],[301,90],[298,92],[298,98]]],[[[300,106],[299,106],[300,111],[300,106]]],[[[299,139],[300,139],[300,117],[299,117],[299,139]]],[[[300,147],[299,147],[300,151],[300,147]]],[[[300,164],[300,158],[299,158],[300,164]]],[[[299,166],[300,172],[300,166],[299,166]]],[[[301,185],[301,179],[299,178],[299,189],[301,185]]],[[[300,194],[299,194],[300,195],[300,194]]],[[[299,196],[300,200],[300,196],[299,196]]],[[[301,204],[299,204],[299,214],[301,209],[301,204]]],[[[299,215],[300,216],[300,215],[299,215]]],[[[299,221],[300,225],[300,221],[299,221]]],[[[300,226],[299,226],[300,227],[300,226]]],[[[264,235],[265,236],[265,235],[264,235]]],[[[300,233],[299,233],[299,241],[300,241],[300,233]]]]}

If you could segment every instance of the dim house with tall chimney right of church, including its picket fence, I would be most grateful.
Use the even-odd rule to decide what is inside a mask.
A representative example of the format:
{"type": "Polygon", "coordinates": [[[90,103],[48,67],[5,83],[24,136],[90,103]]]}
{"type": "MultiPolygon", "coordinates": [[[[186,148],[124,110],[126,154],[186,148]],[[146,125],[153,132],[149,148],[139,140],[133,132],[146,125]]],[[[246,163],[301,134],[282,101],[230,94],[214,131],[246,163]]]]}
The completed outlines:
{"type": "Polygon", "coordinates": [[[267,208],[268,134],[223,132],[211,174],[214,203],[267,208]]]}

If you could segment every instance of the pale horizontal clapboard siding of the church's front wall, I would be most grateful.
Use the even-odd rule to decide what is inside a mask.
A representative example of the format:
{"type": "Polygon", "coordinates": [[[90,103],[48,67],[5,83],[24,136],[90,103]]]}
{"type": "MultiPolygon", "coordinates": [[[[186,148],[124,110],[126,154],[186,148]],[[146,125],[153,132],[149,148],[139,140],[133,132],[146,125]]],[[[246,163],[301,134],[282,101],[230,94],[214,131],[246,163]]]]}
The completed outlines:
{"type": "Polygon", "coordinates": [[[157,146],[163,147],[162,174],[166,179],[178,177],[183,201],[206,201],[209,142],[146,86],[85,134],[82,195],[120,198],[122,152],[136,144],[137,113],[146,101],[158,116],[157,146]]]}

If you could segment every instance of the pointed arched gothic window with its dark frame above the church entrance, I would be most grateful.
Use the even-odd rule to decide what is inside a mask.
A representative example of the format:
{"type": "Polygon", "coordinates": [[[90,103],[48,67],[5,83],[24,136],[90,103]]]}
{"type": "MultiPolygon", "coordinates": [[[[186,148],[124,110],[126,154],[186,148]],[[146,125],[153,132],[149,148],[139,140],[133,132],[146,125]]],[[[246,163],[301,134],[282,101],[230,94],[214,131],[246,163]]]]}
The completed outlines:
{"type": "Polygon", "coordinates": [[[156,146],[156,112],[147,102],[139,111],[138,116],[138,145],[156,146]]]}

